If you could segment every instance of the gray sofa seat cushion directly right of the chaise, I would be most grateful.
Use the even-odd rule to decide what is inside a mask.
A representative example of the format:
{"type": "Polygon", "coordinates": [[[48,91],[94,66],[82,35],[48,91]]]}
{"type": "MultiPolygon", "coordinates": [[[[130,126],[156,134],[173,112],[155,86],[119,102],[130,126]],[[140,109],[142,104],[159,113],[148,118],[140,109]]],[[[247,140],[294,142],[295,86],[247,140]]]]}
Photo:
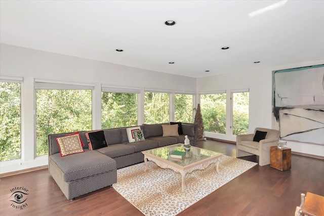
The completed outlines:
{"type": "Polygon", "coordinates": [[[113,144],[101,149],[97,149],[97,151],[107,155],[108,157],[114,158],[133,154],[135,152],[135,148],[133,146],[124,144],[113,144]]]}

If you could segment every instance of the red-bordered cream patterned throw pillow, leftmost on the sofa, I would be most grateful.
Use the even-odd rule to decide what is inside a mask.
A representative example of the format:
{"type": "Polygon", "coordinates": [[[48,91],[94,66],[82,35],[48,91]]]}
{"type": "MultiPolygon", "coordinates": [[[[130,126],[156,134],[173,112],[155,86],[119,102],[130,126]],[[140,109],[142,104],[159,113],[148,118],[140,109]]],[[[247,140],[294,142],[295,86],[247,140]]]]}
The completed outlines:
{"type": "Polygon", "coordinates": [[[84,152],[82,148],[84,144],[80,138],[79,132],[56,138],[56,142],[59,145],[61,157],[84,152]]]}

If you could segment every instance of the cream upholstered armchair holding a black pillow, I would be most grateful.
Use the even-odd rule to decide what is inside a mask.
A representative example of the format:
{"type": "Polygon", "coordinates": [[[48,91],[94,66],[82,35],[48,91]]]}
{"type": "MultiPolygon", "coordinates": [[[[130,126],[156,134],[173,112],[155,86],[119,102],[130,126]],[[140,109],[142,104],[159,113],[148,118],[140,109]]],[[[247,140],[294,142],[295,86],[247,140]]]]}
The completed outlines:
{"type": "Polygon", "coordinates": [[[260,166],[270,164],[270,146],[276,146],[279,142],[279,137],[279,131],[262,127],[256,127],[254,134],[237,135],[236,157],[258,155],[260,166]],[[265,139],[260,140],[260,142],[254,142],[253,138],[256,131],[267,132],[265,139]]]}

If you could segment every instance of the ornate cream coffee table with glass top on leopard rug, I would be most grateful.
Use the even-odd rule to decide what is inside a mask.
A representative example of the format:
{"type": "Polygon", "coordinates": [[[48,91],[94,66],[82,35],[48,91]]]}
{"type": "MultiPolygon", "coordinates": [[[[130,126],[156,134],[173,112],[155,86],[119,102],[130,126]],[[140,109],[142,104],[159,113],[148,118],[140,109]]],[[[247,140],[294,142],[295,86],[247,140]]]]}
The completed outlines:
{"type": "Polygon", "coordinates": [[[211,163],[217,163],[216,170],[219,172],[219,157],[222,156],[222,153],[191,146],[190,151],[185,152],[182,159],[179,159],[170,156],[174,151],[185,152],[183,144],[179,143],[171,146],[142,151],[145,162],[144,171],[147,171],[147,161],[151,160],[161,168],[170,168],[176,172],[180,172],[182,192],[185,191],[184,180],[188,172],[192,172],[195,169],[205,169],[211,163]]]}

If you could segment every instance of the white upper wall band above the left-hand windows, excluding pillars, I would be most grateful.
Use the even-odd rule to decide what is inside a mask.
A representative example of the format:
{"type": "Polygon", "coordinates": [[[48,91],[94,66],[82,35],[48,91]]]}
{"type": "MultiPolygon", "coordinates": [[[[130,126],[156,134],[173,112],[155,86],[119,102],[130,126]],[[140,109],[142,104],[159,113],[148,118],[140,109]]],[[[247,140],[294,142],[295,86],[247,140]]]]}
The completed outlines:
{"type": "Polygon", "coordinates": [[[73,82],[195,92],[196,79],[0,44],[0,73],[73,82]]]}

